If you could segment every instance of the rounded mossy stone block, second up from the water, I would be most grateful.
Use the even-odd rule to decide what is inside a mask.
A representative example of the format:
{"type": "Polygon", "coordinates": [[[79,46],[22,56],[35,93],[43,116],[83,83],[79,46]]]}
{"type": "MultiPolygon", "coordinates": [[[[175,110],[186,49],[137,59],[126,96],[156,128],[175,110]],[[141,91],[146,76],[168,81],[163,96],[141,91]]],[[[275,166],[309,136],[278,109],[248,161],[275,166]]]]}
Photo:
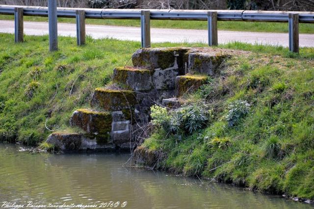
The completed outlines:
{"type": "Polygon", "coordinates": [[[70,125],[77,126],[89,134],[108,134],[111,130],[112,116],[109,112],[79,109],[74,111],[70,125]]]}

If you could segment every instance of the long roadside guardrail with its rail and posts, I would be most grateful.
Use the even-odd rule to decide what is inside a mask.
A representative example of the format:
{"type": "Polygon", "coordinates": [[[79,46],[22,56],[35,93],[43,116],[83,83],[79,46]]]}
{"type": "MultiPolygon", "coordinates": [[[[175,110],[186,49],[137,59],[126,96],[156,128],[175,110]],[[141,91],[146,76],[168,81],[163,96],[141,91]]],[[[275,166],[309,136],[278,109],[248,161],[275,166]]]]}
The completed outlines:
{"type": "MultiPolygon", "coordinates": [[[[55,1],[55,0],[49,0],[55,1]]],[[[23,26],[24,16],[48,17],[48,7],[0,5],[0,14],[15,15],[16,34],[23,26]],[[21,10],[23,12],[21,13],[21,10]],[[17,11],[20,11],[19,13],[17,11]],[[20,17],[22,16],[22,18],[20,17]],[[20,18],[19,18],[20,17],[20,18]],[[22,20],[22,23],[21,23],[22,20]],[[20,23],[18,23],[19,21],[20,23]]],[[[87,9],[87,8],[57,8],[57,17],[77,18],[78,45],[84,44],[85,18],[90,19],[140,19],[142,47],[150,43],[149,20],[199,20],[208,21],[209,46],[217,45],[217,21],[249,21],[249,22],[288,22],[289,50],[299,51],[298,23],[314,23],[314,12],[282,12],[282,11],[249,11],[249,10],[139,10],[139,9],[87,9]],[[80,11],[80,12],[78,12],[80,11]],[[145,11],[145,12],[144,12],[145,11]],[[84,13],[78,15],[78,13],[84,13]],[[79,18],[79,20],[78,20],[79,18]],[[83,34],[82,34],[83,33],[83,34]]],[[[22,29],[23,34],[23,29],[22,29]]],[[[17,36],[16,37],[21,37],[17,36]]],[[[22,36],[23,37],[23,36],[22,36]]],[[[17,40],[17,42],[21,40],[17,40]]],[[[23,41],[23,40],[22,40],[23,41]]]]}

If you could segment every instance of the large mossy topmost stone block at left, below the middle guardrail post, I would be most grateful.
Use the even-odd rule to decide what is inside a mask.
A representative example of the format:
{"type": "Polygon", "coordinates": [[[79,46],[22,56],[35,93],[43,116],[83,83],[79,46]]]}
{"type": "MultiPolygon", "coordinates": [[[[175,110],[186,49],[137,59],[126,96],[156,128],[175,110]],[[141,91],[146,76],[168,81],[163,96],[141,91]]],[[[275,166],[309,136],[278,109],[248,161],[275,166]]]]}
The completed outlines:
{"type": "Polygon", "coordinates": [[[184,47],[141,48],[132,55],[133,66],[149,70],[164,70],[177,65],[179,73],[183,74],[184,63],[187,62],[185,54],[188,50],[189,48],[184,47]]]}

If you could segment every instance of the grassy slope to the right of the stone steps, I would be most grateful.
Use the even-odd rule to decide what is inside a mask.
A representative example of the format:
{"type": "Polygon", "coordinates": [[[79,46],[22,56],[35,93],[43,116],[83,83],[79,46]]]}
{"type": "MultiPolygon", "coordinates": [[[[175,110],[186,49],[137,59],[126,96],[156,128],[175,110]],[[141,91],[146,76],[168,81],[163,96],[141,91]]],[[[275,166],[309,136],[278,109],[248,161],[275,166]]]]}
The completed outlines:
{"type": "Polygon", "coordinates": [[[282,47],[220,47],[251,53],[227,61],[224,79],[186,95],[207,102],[214,119],[181,137],[159,128],[142,146],[164,156],[156,165],[162,170],[314,199],[314,48],[297,55],[282,47]],[[249,114],[230,127],[229,104],[239,99],[251,105],[249,114]]]}

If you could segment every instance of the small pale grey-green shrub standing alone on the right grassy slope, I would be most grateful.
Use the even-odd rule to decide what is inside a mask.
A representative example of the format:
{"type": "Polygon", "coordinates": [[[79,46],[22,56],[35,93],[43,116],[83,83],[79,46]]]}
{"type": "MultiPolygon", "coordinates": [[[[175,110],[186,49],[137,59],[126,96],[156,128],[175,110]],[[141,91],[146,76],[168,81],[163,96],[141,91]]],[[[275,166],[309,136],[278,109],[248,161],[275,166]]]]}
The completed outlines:
{"type": "Polygon", "coordinates": [[[228,122],[228,126],[233,127],[239,123],[241,118],[249,113],[250,104],[246,101],[235,100],[229,104],[228,109],[229,111],[225,119],[228,122]]]}

